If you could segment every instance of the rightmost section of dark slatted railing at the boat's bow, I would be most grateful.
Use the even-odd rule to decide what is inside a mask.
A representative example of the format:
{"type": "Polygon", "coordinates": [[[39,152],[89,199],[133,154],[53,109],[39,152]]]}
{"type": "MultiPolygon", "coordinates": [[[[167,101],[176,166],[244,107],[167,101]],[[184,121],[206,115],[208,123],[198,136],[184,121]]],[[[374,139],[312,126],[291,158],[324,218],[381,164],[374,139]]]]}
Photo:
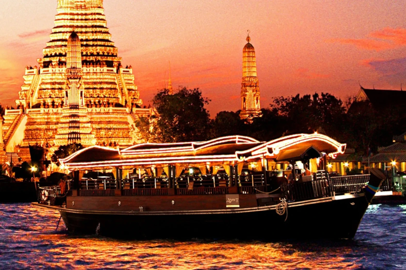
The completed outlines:
{"type": "Polygon", "coordinates": [[[335,176],[330,178],[332,190],[336,194],[355,193],[369,182],[369,174],[335,176]]]}

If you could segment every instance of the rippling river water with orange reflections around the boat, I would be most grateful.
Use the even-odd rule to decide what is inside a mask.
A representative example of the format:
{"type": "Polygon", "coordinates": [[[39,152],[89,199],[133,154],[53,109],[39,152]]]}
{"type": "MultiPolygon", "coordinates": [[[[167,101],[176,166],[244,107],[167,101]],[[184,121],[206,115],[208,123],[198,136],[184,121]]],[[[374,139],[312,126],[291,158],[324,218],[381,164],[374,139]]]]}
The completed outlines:
{"type": "Polygon", "coordinates": [[[0,269],[406,269],[406,206],[371,205],[354,240],[323,242],[69,236],[59,217],[0,204],[0,269]]]}

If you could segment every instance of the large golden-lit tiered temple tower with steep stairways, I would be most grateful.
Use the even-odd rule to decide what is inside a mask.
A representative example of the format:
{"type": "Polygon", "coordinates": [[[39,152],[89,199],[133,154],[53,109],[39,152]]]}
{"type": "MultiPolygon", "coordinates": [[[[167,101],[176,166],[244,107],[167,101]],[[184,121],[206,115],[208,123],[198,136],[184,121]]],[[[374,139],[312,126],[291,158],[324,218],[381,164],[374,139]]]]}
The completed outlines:
{"type": "Polygon", "coordinates": [[[57,3],[43,57],[26,67],[17,109],[5,112],[4,149],[30,160],[29,145],[47,146],[48,159],[71,142],[133,145],[139,140],[134,121],[152,111],[141,108],[132,66],[121,64],[103,1],[57,3]]]}

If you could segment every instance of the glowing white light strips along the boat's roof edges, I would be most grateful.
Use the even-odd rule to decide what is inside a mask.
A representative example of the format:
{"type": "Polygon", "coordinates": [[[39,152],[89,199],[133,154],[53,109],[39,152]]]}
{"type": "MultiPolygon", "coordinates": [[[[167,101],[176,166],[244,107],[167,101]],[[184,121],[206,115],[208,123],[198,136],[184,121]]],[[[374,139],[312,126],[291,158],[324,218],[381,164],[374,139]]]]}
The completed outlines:
{"type": "MultiPolygon", "coordinates": [[[[274,153],[270,153],[268,149],[289,149],[289,147],[295,147],[295,145],[309,142],[322,142],[331,145],[330,151],[341,152],[345,149],[345,144],[340,144],[339,142],[321,134],[296,134],[285,136],[277,140],[272,140],[266,143],[260,143],[259,141],[240,136],[226,136],[221,138],[216,138],[207,142],[182,142],[182,143],[163,143],[163,144],[140,144],[128,147],[121,152],[118,149],[112,149],[108,147],[93,146],[82,149],[76,153],[73,153],[65,159],[60,159],[61,164],[65,165],[66,168],[71,170],[78,169],[95,169],[95,168],[114,168],[114,167],[130,167],[130,166],[162,166],[162,164],[189,164],[189,163],[205,163],[214,162],[220,163],[222,165],[235,165],[238,162],[245,162],[252,160],[250,163],[251,168],[255,168],[255,161],[260,161],[263,158],[275,157],[274,153]],[[212,148],[214,146],[229,145],[234,143],[236,145],[241,145],[244,143],[258,143],[259,146],[255,146],[246,151],[235,151],[235,153],[219,153],[212,155],[199,155],[197,150],[201,151],[205,148],[212,148]],[[196,147],[196,145],[199,145],[196,147]],[[156,148],[158,146],[158,148],[156,148]],[[113,158],[110,160],[102,161],[78,161],[75,162],[73,159],[89,151],[92,148],[104,149],[106,151],[112,151],[117,153],[118,158],[113,158]],[[140,149],[137,149],[140,148],[140,149]],[[255,155],[253,155],[255,153],[255,155]],[[244,154],[244,155],[243,155],[244,154]]],[[[248,146],[249,147],[249,146],[248,146]]]]}

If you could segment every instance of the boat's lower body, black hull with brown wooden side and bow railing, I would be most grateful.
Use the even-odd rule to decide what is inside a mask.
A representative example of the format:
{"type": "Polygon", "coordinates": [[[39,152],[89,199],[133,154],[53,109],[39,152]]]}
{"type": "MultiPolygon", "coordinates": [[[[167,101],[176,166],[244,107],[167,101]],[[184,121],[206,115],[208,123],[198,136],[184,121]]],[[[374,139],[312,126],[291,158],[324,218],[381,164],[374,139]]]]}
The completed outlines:
{"type": "Polygon", "coordinates": [[[60,211],[72,234],[137,239],[353,238],[375,195],[370,188],[379,189],[383,180],[373,175],[326,178],[283,185],[277,194],[241,187],[73,190],[64,198],[49,194],[48,205],[35,205],[60,211]],[[65,206],[56,206],[61,200],[65,206]]]}

